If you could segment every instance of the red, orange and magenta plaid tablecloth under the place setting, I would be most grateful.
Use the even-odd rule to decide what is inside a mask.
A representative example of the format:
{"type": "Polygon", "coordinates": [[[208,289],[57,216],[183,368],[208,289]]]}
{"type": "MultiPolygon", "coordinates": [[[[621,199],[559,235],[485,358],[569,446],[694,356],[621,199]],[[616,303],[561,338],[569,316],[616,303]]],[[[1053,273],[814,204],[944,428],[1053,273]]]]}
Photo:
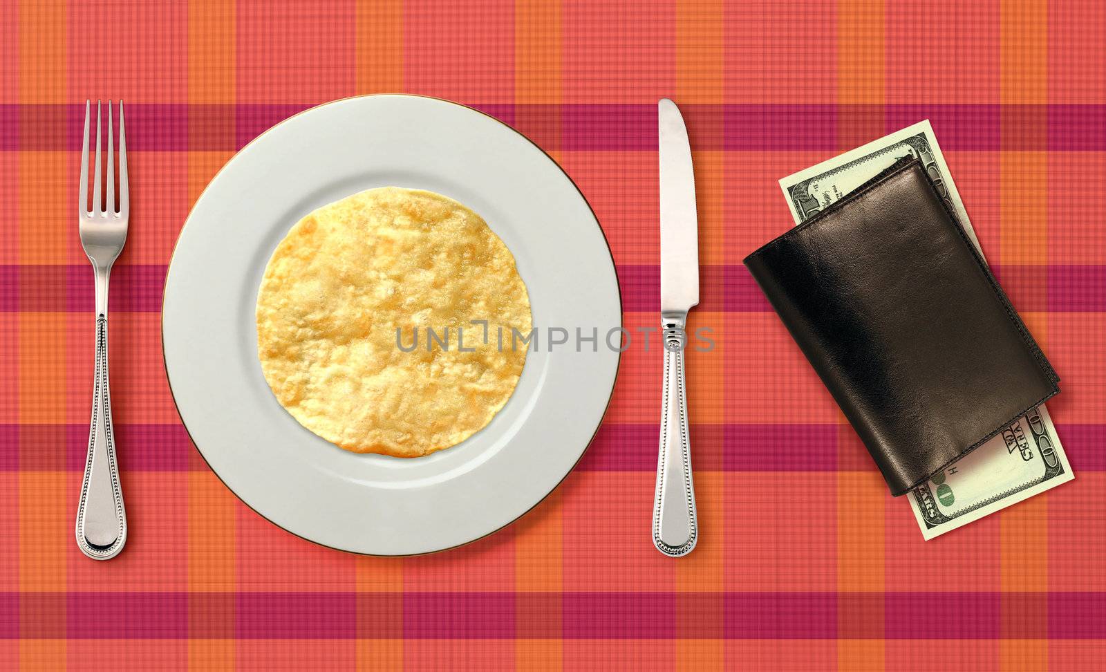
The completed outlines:
{"type": "Polygon", "coordinates": [[[1102,2],[451,0],[0,3],[0,666],[1103,669],[1106,8],[1102,2]],[[333,98],[483,109],[586,195],[627,327],[657,324],[655,105],[687,118],[702,303],[701,542],[649,543],[660,354],[632,348],[580,466],[468,547],[314,546],[234,498],[163,369],[166,264],[237,149],[333,98]],[[112,279],[131,537],[73,542],[92,384],[75,193],[85,97],[123,97],[132,230],[112,279]],[[932,120],[980,241],[1063,377],[1076,480],[925,543],[741,266],[776,180],[932,120]]]}

